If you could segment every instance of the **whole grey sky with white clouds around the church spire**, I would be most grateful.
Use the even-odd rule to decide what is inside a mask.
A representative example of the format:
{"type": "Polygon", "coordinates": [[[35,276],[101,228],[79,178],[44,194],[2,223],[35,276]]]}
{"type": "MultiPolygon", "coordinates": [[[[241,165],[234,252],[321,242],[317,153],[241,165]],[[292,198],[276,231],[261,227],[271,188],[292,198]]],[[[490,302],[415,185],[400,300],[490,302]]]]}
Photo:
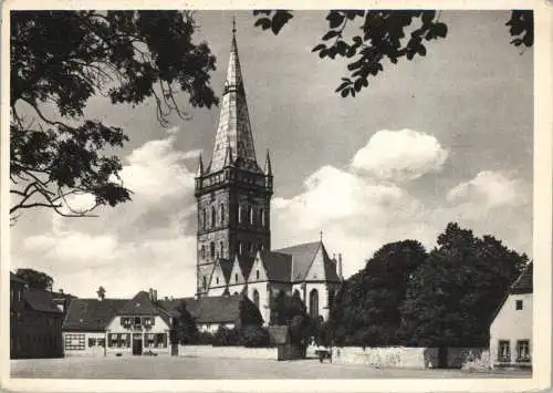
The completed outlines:
{"type": "MultiPolygon", "coordinates": [[[[385,64],[355,99],[334,92],[346,64],[311,53],[324,11],[296,12],[278,37],[246,11],[198,11],[196,40],[217,56],[219,96],[232,17],[261,165],[271,154],[273,249],[323,231],[348,277],[386,242],[416,239],[430,250],[457,221],[532,256],[533,51],[509,43],[508,11],[442,11],[447,39],[425,58],[385,64]]],[[[55,290],[83,298],[98,286],[107,297],[194,294],[194,176],[198,155],[211,157],[219,112],[179,100],[191,120],[171,116],[168,127],[153,102],[90,100],[86,117],[131,137],[119,156],[133,201],[97,218],[24,211],[11,228],[12,270],[44,271],[55,290]]]]}

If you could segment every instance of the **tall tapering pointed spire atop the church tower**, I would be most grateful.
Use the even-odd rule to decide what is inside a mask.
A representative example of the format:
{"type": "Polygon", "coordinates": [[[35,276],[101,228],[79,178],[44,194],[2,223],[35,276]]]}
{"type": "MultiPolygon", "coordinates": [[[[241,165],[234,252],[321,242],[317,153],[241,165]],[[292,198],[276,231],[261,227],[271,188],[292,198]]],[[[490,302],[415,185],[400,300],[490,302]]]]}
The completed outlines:
{"type": "Polygon", "coordinates": [[[232,22],[232,41],[227,69],[223,94],[221,97],[219,125],[215,139],[213,155],[209,170],[221,170],[226,165],[230,147],[232,158],[255,162],[255,148],[251,133],[250,116],[242,82],[242,71],[238,58],[236,22],[232,22]]]}

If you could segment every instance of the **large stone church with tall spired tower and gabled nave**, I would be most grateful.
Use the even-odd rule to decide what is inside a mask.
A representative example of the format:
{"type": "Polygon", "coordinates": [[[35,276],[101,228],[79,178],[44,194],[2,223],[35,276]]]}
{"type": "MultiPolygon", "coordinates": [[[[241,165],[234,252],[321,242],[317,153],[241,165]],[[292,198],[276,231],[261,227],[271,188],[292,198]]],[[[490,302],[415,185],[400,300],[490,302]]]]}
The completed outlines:
{"type": "Polygon", "coordinates": [[[271,249],[273,168],[258,163],[232,29],[211,161],[199,157],[196,296],[246,294],[270,321],[274,298],[299,294],[313,318],[328,318],[342,281],[342,255],[317,241],[271,249]]]}

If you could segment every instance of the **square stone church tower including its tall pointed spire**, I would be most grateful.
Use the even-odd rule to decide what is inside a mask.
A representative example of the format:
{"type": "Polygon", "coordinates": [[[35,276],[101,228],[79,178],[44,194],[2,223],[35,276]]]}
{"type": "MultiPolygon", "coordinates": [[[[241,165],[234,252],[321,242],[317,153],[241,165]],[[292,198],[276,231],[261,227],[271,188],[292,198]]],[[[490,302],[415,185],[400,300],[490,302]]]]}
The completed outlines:
{"type": "Polygon", "coordinates": [[[250,260],[271,249],[272,182],[269,151],[263,169],[255,157],[233,24],[211,162],[204,166],[200,156],[196,173],[198,296],[218,259],[250,260]]]}

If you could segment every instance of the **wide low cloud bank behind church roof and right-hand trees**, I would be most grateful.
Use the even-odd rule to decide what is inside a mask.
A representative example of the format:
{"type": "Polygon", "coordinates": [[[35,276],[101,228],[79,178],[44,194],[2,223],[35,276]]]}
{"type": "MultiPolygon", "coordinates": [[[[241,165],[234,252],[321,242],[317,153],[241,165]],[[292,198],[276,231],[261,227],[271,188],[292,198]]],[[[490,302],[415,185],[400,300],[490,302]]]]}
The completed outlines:
{"type": "MultiPolygon", "coordinates": [[[[428,151],[425,144],[414,144],[411,157],[425,155],[417,154],[417,146],[428,151]]],[[[418,169],[422,173],[422,165],[418,169]]],[[[482,170],[438,200],[422,201],[409,193],[408,184],[365,176],[354,168],[323,166],[307,176],[298,195],[274,198],[273,246],[314,241],[323,231],[328,252],[343,254],[344,275],[349,276],[387,242],[415,239],[431,249],[447,224],[457,221],[477,236],[491,234],[508,247],[529,252],[530,189],[513,173],[482,170]]]]}

